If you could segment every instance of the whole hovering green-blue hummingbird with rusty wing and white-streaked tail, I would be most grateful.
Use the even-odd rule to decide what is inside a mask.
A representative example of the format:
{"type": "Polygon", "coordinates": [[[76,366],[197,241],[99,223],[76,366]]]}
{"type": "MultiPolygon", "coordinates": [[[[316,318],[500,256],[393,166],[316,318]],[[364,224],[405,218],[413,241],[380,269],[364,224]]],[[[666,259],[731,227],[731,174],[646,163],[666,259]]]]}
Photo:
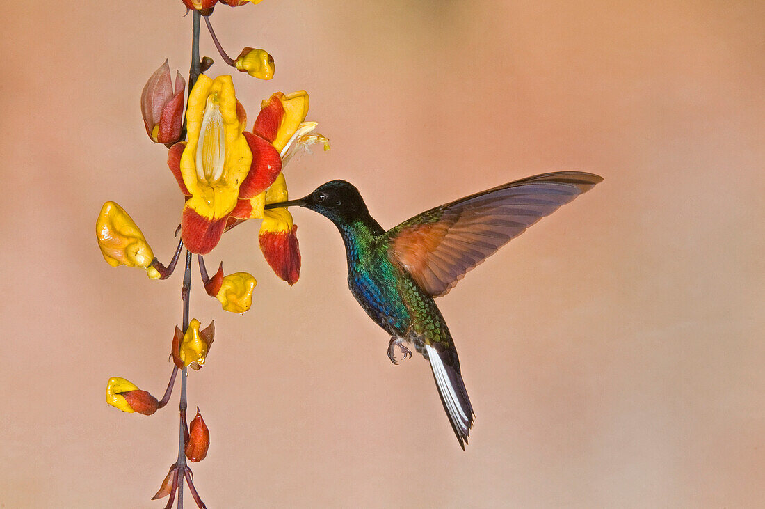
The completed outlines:
{"type": "Polygon", "coordinates": [[[441,403],[464,450],[473,406],[454,341],[434,299],[509,240],[602,180],[580,171],[522,178],[432,208],[387,231],[369,215],[359,190],[342,180],[265,208],[305,207],[340,230],[350,292],[390,334],[387,353],[393,364],[398,364],[396,347],[402,359],[412,357],[406,344],[430,361],[441,403]]]}

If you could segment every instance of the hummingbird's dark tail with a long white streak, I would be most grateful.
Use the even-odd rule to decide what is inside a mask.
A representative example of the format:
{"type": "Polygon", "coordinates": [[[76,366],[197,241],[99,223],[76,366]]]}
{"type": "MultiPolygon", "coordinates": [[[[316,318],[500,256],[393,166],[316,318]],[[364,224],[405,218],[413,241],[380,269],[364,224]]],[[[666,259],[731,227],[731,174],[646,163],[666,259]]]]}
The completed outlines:
{"type": "Polygon", "coordinates": [[[464,451],[470,427],[473,426],[474,413],[462,381],[457,350],[454,346],[444,347],[434,343],[425,345],[425,353],[431,363],[438,396],[441,396],[441,403],[449,416],[454,435],[464,451]]]}

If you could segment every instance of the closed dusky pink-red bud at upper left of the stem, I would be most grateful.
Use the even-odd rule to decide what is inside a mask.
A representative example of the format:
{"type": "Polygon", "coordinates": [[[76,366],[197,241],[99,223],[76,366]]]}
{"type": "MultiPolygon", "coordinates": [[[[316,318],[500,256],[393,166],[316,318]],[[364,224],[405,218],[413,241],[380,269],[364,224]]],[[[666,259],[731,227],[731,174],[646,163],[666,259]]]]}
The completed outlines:
{"type": "Polygon", "coordinates": [[[141,113],[146,134],[155,143],[174,143],[181,138],[186,81],[176,71],[175,89],[168,60],[146,82],[141,93],[141,113]]]}

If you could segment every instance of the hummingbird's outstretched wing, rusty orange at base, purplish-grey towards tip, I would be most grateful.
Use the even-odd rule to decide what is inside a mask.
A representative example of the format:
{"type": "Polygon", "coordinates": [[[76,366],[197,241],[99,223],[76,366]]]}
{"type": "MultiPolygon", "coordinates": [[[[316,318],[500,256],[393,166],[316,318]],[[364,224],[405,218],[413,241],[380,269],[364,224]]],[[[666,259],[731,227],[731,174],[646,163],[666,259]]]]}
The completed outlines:
{"type": "Polygon", "coordinates": [[[465,273],[509,240],[603,178],[545,173],[435,207],[385,233],[389,256],[429,295],[446,295],[465,273]]]}

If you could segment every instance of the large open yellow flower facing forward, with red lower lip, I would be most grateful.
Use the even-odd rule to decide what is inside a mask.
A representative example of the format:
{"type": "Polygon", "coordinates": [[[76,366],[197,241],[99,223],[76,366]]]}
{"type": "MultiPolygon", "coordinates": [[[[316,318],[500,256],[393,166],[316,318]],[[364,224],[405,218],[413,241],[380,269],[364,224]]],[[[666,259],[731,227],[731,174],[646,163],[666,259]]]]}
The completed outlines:
{"type": "Polygon", "coordinates": [[[220,241],[239,199],[239,186],[249,174],[252,152],[237,104],[230,76],[210,80],[200,74],[191,90],[186,115],[188,142],[180,170],[190,194],[181,220],[181,238],[192,253],[210,253],[220,241]]]}

